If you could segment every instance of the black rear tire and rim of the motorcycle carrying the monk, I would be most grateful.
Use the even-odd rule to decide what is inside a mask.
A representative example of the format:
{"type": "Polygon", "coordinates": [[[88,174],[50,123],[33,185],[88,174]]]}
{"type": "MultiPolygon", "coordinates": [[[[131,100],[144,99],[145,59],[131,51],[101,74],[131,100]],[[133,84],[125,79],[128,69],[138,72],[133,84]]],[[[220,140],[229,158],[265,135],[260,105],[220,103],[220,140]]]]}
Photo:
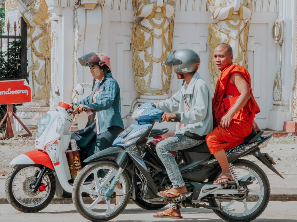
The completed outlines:
{"type": "MultiPolygon", "coordinates": [[[[236,160],[235,162],[233,162],[233,166],[234,166],[234,169],[236,172],[240,169],[248,170],[249,172],[254,174],[253,180],[255,181],[257,179],[257,181],[258,181],[258,182],[253,182],[252,184],[247,186],[247,188],[249,189],[249,193],[246,198],[252,198],[252,195],[250,196],[249,194],[255,193],[255,190],[252,190],[251,187],[249,188],[249,186],[252,186],[253,184],[256,186],[260,186],[260,191],[257,193],[261,193],[262,195],[260,197],[259,194],[257,194],[258,201],[253,200],[254,202],[248,202],[248,201],[246,201],[246,199],[240,200],[240,201],[235,201],[235,202],[237,202],[238,205],[241,205],[241,204],[244,205],[243,213],[238,213],[236,215],[236,213],[234,213],[234,211],[235,211],[234,210],[235,208],[233,206],[234,202],[232,204],[230,204],[231,201],[229,201],[229,204],[231,206],[233,206],[232,208],[230,208],[232,210],[229,211],[228,210],[229,206],[228,206],[228,207],[226,207],[226,209],[223,208],[222,211],[214,210],[214,213],[216,213],[220,218],[222,218],[225,221],[249,222],[249,221],[252,221],[255,218],[257,218],[258,216],[260,216],[261,213],[263,213],[263,211],[267,207],[267,204],[269,202],[269,197],[270,197],[270,184],[269,184],[268,178],[267,178],[266,174],[264,173],[264,171],[258,165],[256,165],[255,163],[253,163],[249,160],[244,160],[244,159],[236,160]],[[249,204],[255,203],[255,206],[249,210],[248,207],[250,207],[250,205],[248,205],[248,203],[249,204]],[[250,212],[248,212],[248,210],[250,212]]],[[[215,179],[217,179],[220,176],[221,173],[222,173],[221,170],[217,171],[209,178],[208,181],[214,181],[215,179]]],[[[250,178],[252,178],[252,176],[250,178]]],[[[214,195],[212,195],[212,196],[214,197],[214,195]]],[[[219,207],[218,199],[208,199],[208,202],[211,207],[219,207]]]]}

